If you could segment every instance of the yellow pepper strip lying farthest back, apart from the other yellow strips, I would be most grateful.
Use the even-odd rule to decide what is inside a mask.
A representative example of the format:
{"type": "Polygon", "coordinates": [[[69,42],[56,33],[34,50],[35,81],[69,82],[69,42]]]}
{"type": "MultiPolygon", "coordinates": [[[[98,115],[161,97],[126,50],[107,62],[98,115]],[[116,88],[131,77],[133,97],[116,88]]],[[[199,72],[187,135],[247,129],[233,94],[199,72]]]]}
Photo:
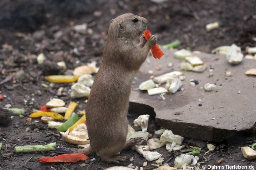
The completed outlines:
{"type": "Polygon", "coordinates": [[[77,76],[69,76],[69,75],[52,75],[52,76],[44,76],[47,81],[52,83],[72,83],[75,82],[78,77],[77,76]]]}

